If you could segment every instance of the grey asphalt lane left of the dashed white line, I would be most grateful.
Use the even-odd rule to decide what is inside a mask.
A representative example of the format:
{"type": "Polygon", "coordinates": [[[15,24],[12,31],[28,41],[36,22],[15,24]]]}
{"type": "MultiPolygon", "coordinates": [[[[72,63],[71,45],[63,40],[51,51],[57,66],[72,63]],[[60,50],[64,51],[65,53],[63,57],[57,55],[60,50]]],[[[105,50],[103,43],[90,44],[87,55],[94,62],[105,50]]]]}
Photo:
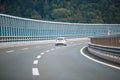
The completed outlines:
{"type": "Polygon", "coordinates": [[[33,80],[32,67],[36,55],[51,45],[0,50],[0,80],[33,80]],[[9,52],[13,50],[14,52],[9,52]]]}

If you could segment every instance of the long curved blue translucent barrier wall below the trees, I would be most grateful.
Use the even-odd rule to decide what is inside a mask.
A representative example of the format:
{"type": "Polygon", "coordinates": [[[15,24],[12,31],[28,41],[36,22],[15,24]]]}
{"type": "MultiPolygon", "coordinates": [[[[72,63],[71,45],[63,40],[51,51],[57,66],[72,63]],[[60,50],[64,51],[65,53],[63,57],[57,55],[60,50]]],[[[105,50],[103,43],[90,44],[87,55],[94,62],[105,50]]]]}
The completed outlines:
{"type": "Polygon", "coordinates": [[[0,14],[0,42],[50,40],[58,36],[80,38],[110,33],[120,33],[120,24],[64,23],[0,14]]]}

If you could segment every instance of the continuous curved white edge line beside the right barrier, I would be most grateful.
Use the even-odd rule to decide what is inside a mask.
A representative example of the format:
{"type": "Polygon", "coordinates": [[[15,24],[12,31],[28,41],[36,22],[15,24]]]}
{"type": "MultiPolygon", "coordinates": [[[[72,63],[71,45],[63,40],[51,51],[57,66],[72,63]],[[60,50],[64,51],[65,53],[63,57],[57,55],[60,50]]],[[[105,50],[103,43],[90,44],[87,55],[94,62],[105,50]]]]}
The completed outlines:
{"type": "Polygon", "coordinates": [[[83,49],[84,49],[84,48],[85,48],[85,47],[83,47],[83,48],[80,50],[80,53],[81,53],[83,56],[85,56],[86,58],[88,58],[88,59],[90,59],[90,60],[92,60],[92,61],[94,61],[94,62],[97,62],[97,63],[99,63],[99,64],[103,64],[103,65],[106,65],[106,66],[109,66],[109,67],[112,67],[112,68],[115,68],[115,69],[120,70],[120,67],[118,67],[118,66],[111,65],[111,64],[108,64],[108,63],[105,63],[105,62],[102,62],[102,61],[98,61],[98,60],[96,60],[96,59],[94,59],[94,58],[92,58],[92,57],[89,57],[88,55],[84,54],[84,53],[83,53],[83,49]]]}

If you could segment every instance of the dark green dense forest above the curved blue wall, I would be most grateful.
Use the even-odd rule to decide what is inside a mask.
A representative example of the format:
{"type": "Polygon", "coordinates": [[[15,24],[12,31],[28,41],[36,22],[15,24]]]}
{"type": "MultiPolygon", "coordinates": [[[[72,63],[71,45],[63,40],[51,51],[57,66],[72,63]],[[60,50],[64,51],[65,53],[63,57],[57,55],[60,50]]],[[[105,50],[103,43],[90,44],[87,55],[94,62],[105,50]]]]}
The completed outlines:
{"type": "Polygon", "coordinates": [[[76,23],[120,23],[120,0],[0,0],[0,13],[76,23]]]}

